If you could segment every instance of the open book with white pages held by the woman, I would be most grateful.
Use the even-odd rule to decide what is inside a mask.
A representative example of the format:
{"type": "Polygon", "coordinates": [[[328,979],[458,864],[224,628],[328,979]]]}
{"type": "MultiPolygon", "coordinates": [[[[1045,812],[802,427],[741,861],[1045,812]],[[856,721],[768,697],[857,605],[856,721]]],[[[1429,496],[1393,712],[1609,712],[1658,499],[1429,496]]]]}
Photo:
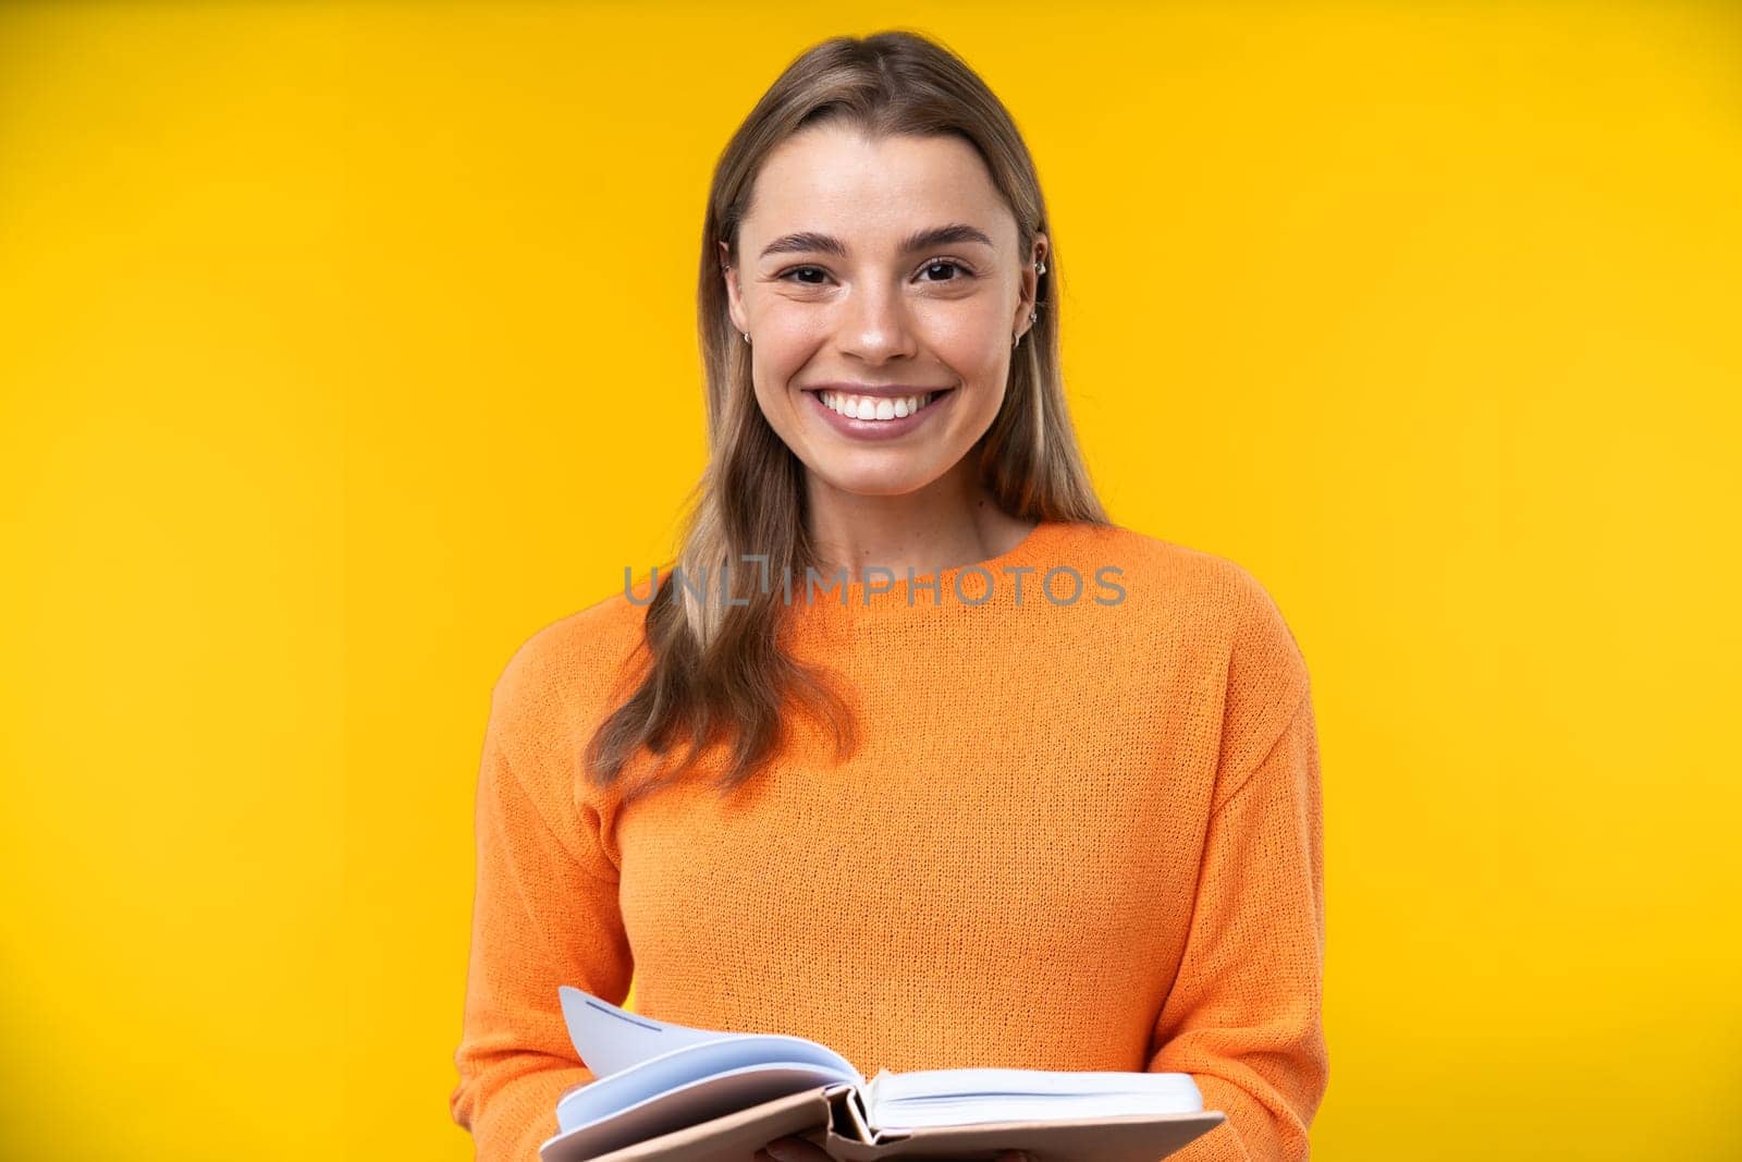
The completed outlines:
{"type": "Polygon", "coordinates": [[[540,1162],[751,1162],[775,1138],[834,1159],[1158,1162],[1223,1115],[1188,1073],[880,1070],[782,1033],[669,1024],[563,986],[563,1019],[594,1080],[557,1098],[540,1162]]]}

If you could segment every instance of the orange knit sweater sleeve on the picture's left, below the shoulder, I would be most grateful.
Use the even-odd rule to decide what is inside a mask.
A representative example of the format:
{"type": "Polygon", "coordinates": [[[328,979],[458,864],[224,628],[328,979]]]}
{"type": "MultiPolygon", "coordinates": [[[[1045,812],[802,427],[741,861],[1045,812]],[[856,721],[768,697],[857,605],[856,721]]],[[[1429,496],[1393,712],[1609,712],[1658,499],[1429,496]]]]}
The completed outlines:
{"type": "Polygon", "coordinates": [[[564,732],[517,655],[496,683],[477,779],[477,880],[463,1024],[448,1105],[479,1162],[537,1162],[564,1089],[592,1080],[559,984],[613,1003],[632,960],[598,815],[577,803],[564,732]]]}

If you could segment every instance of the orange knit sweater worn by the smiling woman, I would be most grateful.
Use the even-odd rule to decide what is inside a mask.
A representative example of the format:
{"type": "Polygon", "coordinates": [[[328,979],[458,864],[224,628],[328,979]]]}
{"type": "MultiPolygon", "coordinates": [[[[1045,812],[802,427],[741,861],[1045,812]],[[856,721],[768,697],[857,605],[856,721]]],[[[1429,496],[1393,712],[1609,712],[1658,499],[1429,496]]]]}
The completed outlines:
{"type": "Polygon", "coordinates": [[[645,608],[618,592],[514,653],[449,1098],[481,1162],[535,1162],[592,1077],[557,986],[622,1003],[631,976],[639,1012],[808,1037],[866,1077],[1190,1073],[1228,1120],[1174,1159],[1306,1157],[1324,882],[1293,631],[1239,564],[1117,526],[1045,523],[979,568],[845,608],[798,578],[784,641],[845,678],[862,746],[836,765],[801,719],[725,801],[723,747],[627,810],[577,774],[645,608]],[[1075,601],[1068,573],[1040,592],[1056,566],[1075,601]]]}

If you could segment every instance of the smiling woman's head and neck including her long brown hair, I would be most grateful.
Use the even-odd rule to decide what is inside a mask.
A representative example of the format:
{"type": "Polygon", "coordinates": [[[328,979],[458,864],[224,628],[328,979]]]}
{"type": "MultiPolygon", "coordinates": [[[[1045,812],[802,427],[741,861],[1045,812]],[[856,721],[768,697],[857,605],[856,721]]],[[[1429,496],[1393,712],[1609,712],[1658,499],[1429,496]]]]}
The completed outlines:
{"type": "MultiPolygon", "coordinates": [[[[1108,526],[1064,401],[1056,280],[1035,162],[960,57],[890,31],[794,59],[714,167],[697,286],[712,455],[683,575],[754,557],[857,584],[996,557],[1043,521],[1108,526]]],[[[589,767],[615,779],[641,747],[730,739],[721,782],[739,786],[791,709],[850,749],[827,678],[777,646],[784,594],[704,591],[653,596],[652,671],[589,767]]]]}

